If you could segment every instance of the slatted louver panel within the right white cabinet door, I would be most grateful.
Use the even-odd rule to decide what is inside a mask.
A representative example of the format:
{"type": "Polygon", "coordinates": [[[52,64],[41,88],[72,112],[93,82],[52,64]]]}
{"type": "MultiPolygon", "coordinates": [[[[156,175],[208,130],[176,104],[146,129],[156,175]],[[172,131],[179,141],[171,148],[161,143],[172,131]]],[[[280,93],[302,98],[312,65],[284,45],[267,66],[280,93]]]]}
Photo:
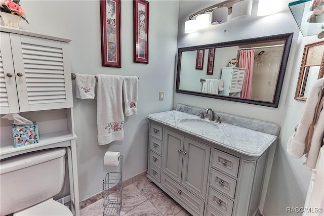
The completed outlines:
{"type": "Polygon", "coordinates": [[[62,49],[21,46],[29,105],[66,102],[62,49]]]}

